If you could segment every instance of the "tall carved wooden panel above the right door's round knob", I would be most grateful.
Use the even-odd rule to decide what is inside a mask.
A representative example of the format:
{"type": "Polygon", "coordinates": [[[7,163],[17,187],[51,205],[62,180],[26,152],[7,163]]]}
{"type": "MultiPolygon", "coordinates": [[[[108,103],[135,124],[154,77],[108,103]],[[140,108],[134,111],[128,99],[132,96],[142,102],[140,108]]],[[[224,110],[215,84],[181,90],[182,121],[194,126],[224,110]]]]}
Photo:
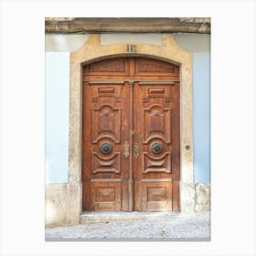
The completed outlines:
{"type": "Polygon", "coordinates": [[[144,108],[143,125],[144,144],[154,138],[160,138],[165,143],[171,141],[171,109],[163,108],[159,104],[144,108]]]}

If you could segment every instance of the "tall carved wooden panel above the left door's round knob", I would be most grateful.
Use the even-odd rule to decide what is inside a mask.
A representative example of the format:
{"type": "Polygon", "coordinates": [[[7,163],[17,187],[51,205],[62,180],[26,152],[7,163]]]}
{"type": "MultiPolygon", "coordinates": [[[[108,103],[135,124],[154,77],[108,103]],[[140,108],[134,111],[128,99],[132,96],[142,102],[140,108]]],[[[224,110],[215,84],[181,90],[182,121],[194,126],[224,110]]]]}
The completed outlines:
{"type": "Polygon", "coordinates": [[[91,109],[91,142],[97,144],[101,139],[109,138],[120,143],[121,109],[109,104],[91,109]]]}

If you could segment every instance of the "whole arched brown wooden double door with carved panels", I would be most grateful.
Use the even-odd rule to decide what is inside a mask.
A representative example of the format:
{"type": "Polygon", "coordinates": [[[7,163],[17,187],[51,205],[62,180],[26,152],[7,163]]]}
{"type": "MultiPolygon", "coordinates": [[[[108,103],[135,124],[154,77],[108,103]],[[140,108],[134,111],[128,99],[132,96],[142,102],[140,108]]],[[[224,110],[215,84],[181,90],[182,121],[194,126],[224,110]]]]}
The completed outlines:
{"type": "Polygon", "coordinates": [[[179,209],[179,67],[114,58],[83,66],[84,211],[179,209]]]}

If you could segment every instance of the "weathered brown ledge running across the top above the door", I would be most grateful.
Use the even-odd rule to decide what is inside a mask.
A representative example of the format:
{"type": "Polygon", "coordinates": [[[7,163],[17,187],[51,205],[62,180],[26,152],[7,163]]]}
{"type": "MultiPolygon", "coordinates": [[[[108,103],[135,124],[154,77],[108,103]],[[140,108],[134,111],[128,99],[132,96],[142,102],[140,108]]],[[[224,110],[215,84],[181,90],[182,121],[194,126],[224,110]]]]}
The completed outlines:
{"type": "Polygon", "coordinates": [[[46,33],[79,34],[100,32],[210,34],[208,17],[46,17],[46,33]]]}

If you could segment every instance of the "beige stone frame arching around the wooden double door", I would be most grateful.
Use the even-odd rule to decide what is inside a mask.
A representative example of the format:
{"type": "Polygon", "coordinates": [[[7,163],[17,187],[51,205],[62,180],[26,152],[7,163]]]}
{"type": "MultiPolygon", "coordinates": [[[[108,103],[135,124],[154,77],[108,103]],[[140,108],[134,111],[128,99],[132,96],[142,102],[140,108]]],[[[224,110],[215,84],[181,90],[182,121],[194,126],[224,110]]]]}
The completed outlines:
{"type": "Polygon", "coordinates": [[[171,34],[162,34],[162,45],[137,43],[137,52],[127,53],[123,43],[101,46],[101,35],[91,34],[85,44],[70,53],[69,87],[69,184],[75,184],[74,194],[82,210],[81,133],[82,133],[82,66],[100,59],[141,56],[161,59],[180,66],[180,211],[193,212],[193,131],[192,131],[192,56],[176,44],[171,34]],[[192,196],[191,196],[192,195],[192,196]]]}

